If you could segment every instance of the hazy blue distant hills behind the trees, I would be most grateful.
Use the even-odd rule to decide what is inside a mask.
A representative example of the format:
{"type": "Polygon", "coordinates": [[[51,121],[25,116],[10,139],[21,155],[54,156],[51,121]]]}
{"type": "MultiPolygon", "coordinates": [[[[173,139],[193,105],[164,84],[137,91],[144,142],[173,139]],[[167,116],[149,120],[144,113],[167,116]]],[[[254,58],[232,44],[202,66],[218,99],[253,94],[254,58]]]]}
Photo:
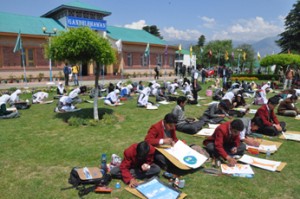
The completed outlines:
{"type": "MultiPolygon", "coordinates": [[[[275,43],[278,40],[278,36],[267,37],[259,41],[253,42],[242,42],[242,41],[232,41],[233,47],[237,47],[243,43],[252,45],[255,53],[259,52],[261,57],[266,55],[276,54],[281,51],[280,47],[275,43]]],[[[196,45],[196,41],[186,41],[186,40],[174,40],[167,41],[169,45],[178,45],[181,44],[183,49],[189,49],[191,45],[196,45]]]]}

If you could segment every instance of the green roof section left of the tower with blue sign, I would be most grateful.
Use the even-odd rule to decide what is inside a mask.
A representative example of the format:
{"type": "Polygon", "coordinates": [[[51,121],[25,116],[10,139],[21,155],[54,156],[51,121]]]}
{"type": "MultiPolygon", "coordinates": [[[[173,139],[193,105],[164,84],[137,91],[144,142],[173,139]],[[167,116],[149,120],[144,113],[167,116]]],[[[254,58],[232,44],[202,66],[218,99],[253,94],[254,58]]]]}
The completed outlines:
{"type": "Polygon", "coordinates": [[[0,12],[0,32],[44,35],[42,28],[46,27],[47,31],[56,28],[58,31],[64,30],[64,27],[50,18],[33,17],[0,12]]]}

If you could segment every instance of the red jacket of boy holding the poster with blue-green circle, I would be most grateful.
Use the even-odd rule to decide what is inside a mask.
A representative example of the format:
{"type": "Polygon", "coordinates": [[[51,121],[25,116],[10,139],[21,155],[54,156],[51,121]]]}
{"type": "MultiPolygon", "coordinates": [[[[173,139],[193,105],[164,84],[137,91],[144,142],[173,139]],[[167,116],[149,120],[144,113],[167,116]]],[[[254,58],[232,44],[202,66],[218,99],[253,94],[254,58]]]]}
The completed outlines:
{"type": "MultiPolygon", "coordinates": [[[[159,145],[159,140],[164,139],[165,133],[164,133],[164,126],[163,126],[163,120],[160,120],[156,124],[153,124],[150,129],[148,130],[148,133],[145,137],[145,141],[148,142],[152,146],[159,145]]],[[[176,137],[176,130],[171,131],[171,138],[174,142],[177,142],[178,139],[176,137]]]]}

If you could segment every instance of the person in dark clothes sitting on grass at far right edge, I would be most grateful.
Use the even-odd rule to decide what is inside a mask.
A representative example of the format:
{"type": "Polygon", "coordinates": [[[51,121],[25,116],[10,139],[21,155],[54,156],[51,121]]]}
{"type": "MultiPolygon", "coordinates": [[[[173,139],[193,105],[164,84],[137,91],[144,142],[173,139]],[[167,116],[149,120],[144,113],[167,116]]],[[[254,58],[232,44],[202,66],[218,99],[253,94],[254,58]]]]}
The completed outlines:
{"type": "Polygon", "coordinates": [[[295,106],[295,102],[298,100],[296,95],[288,95],[287,98],[280,102],[277,113],[278,115],[296,117],[300,114],[300,111],[295,106]]]}

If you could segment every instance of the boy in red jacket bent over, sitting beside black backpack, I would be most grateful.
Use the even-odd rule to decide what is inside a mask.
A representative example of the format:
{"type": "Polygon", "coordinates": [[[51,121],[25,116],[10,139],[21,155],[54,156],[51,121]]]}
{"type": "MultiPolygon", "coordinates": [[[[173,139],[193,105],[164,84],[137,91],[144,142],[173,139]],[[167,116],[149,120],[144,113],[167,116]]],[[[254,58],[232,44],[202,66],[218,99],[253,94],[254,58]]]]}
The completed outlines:
{"type": "Polygon", "coordinates": [[[124,151],[121,165],[110,171],[112,177],[122,179],[133,188],[139,184],[136,179],[158,175],[160,168],[153,163],[154,152],[155,148],[145,141],[131,145],[124,151]]]}

